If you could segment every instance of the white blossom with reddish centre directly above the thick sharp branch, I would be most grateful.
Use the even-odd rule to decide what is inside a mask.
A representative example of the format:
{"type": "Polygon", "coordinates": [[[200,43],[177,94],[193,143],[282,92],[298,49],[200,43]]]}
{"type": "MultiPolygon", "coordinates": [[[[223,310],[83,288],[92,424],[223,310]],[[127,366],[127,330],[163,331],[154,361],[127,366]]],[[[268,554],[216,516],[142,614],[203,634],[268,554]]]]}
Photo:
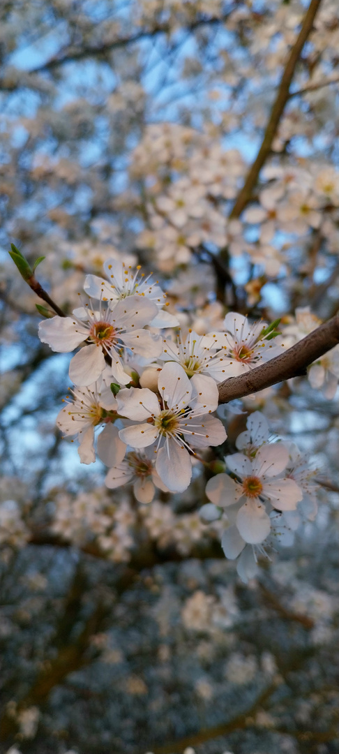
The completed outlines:
{"type": "Polygon", "coordinates": [[[233,377],[255,369],[259,361],[268,361],[282,353],[281,345],[272,345],[263,334],[264,322],[249,323],[243,314],[229,311],[224,317],[225,333],[209,333],[205,344],[223,349],[224,377],[233,377]]]}

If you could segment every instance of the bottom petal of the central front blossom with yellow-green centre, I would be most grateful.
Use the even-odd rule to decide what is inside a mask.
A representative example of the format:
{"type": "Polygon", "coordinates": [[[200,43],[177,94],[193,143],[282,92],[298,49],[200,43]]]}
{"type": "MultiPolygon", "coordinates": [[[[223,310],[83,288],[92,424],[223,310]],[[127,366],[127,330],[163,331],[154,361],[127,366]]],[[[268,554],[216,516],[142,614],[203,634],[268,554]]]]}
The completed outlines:
{"type": "Polygon", "coordinates": [[[191,458],[188,451],[174,440],[169,440],[168,445],[166,443],[158,450],[155,467],[170,492],[184,492],[188,488],[192,476],[191,458]]]}

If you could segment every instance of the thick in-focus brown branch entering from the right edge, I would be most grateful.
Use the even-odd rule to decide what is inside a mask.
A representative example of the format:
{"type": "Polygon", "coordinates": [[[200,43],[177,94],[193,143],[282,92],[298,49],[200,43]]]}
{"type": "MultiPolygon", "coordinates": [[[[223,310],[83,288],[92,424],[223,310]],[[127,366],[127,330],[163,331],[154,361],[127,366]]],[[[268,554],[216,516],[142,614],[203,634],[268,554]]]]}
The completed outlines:
{"type": "Polygon", "coordinates": [[[292,377],[300,377],[307,366],[339,343],[339,314],[313,330],[285,353],[239,377],[230,377],[218,386],[219,403],[228,403],[260,390],[270,388],[292,377]]]}

